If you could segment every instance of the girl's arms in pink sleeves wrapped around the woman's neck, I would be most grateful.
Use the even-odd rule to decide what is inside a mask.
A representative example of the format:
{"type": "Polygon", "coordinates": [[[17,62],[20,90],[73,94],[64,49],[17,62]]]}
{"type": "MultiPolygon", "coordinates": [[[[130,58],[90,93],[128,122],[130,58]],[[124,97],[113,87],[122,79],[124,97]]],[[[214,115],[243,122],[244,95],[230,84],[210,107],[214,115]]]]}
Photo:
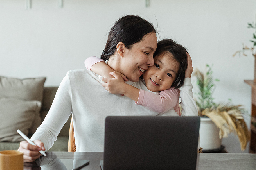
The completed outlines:
{"type": "MultiPolygon", "coordinates": [[[[98,57],[89,57],[85,60],[84,63],[88,70],[92,70],[96,74],[102,76],[105,75],[104,77],[108,78],[102,79],[102,81],[106,82],[103,83],[102,86],[104,86],[108,92],[112,94],[124,94],[125,96],[134,100],[136,104],[147,107],[149,110],[155,111],[157,113],[164,113],[174,108],[178,103],[178,89],[171,88],[160,92],[159,95],[146,92],[144,90],[133,87],[132,85],[126,84],[121,73],[119,74],[116,71],[113,72],[113,69],[108,67],[108,65],[98,57]],[[113,73],[109,74],[110,72],[113,73]],[[115,76],[109,77],[107,75],[115,76]],[[121,76],[122,78],[118,76],[121,76]]],[[[175,111],[180,113],[180,110],[175,109],[175,111]]]]}

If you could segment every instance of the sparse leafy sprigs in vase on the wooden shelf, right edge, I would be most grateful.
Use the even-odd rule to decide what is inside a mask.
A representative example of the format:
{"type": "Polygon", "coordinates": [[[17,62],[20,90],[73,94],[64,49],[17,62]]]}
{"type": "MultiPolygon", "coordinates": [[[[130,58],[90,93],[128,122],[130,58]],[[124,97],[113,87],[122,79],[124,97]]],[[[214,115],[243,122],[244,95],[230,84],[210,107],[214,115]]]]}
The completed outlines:
{"type": "Polygon", "coordinates": [[[253,40],[250,40],[253,43],[253,46],[251,48],[244,46],[243,44],[243,48],[240,51],[236,51],[236,53],[233,55],[236,56],[236,54],[243,54],[244,56],[247,56],[247,54],[245,54],[245,51],[251,51],[252,55],[254,56],[254,83],[256,83],[256,24],[254,25],[254,23],[248,23],[248,28],[252,28],[255,29],[255,33],[253,33],[253,40]]]}

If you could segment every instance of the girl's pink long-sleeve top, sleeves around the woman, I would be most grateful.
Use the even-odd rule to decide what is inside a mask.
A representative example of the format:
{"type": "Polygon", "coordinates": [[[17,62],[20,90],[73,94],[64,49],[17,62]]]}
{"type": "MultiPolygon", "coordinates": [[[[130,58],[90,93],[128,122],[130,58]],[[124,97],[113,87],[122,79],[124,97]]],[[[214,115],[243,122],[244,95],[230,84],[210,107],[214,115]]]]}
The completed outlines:
{"type": "MultiPolygon", "coordinates": [[[[94,64],[101,61],[104,62],[101,58],[89,57],[84,61],[84,64],[87,70],[91,70],[94,64]]],[[[135,103],[157,113],[164,113],[174,108],[175,112],[180,116],[179,93],[179,90],[174,87],[161,91],[159,95],[140,89],[138,102],[135,103]]]]}

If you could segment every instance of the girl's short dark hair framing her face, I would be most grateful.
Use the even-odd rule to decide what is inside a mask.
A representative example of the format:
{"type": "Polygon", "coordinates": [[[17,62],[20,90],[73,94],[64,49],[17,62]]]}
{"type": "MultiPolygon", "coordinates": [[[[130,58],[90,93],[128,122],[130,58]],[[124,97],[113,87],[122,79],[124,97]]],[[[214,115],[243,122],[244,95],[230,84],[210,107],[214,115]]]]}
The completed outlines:
{"type": "Polygon", "coordinates": [[[176,80],[172,84],[172,87],[179,88],[184,84],[185,80],[185,71],[188,67],[187,61],[187,50],[182,45],[176,43],[172,39],[163,39],[157,43],[157,48],[154,53],[154,57],[158,55],[170,52],[174,59],[180,63],[179,71],[176,75],[176,80]],[[179,84],[178,84],[179,83],[179,84]]]}

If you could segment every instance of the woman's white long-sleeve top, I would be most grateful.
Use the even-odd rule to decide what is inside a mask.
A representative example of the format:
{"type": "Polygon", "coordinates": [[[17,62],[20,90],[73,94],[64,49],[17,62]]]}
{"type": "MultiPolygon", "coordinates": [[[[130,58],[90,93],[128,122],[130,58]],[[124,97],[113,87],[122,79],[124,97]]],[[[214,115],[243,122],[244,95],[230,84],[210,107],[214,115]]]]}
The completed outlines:
{"type": "MultiPolygon", "coordinates": [[[[183,115],[198,115],[196,105],[190,106],[194,105],[194,100],[193,93],[186,92],[190,90],[189,86],[192,87],[191,80],[186,83],[187,79],[185,80],[187,86],[184,84],[184,88],[180,88],[181,91],[185,90],[185,92],[180,92],[183,102],[182,113],[183,115]]],[[[157,115],[154,111],[136,105],[126,96],[110,94],[101,86],[102,83],[98,75],[92,71],[68,71],[60,83],[52,107],[31,140],[41,140],[45,149],[49,150],[72,113],[76,151],[103,152],[106,116],[157,115]]],[[[142,81],[128,81],[127,83],[149,91],[142,81]]],[[[178,116],[174,109],[160,115],[178,116]]]]}

